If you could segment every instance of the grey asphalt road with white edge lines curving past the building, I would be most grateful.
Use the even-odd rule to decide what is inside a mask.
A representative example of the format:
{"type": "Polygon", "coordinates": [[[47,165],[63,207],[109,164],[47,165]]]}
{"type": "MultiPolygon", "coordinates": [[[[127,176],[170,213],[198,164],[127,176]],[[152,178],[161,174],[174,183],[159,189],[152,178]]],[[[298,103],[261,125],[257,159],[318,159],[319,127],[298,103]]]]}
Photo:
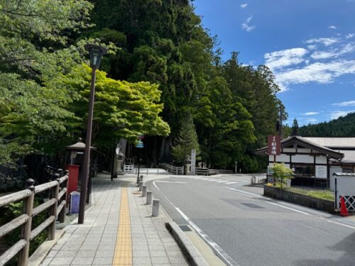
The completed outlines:
{"type": "Polygon", "coordinates": [[[355,265],[355,223],[252,194],[250,176],[168,177],[148,186],[229,265],[355,265]],[[243,190],[249,192],[243,192],[243,190]]]}

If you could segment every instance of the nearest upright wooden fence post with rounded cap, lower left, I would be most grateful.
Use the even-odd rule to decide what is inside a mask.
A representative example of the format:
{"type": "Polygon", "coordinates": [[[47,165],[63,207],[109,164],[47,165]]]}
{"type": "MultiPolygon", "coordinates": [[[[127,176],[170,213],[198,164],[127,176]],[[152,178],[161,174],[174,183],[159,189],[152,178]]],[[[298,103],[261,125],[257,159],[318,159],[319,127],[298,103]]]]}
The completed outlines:
{"type": "Polygon", "coordinates": [[[30,237],[31,237],[31,226],[32,226],[32,211],[33,211],[33,201],[35,199],[35,180],[26,180],[26,189],[31,190],[31,194],[23,200],[23,212],[28,215],[28,221],[23,223],[21,228],[21,238],[26,240],[26,245],[18,253],[18,266],[27,266],[28,264],[28,253],[30,251],[30,237]]]}

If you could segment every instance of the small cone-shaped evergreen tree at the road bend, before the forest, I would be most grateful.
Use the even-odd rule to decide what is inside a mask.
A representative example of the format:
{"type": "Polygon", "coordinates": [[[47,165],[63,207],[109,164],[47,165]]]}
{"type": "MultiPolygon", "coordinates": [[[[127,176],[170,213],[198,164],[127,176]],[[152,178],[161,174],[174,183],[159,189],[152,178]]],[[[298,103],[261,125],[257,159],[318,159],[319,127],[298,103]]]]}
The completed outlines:
{"type": "Polygon", "coordinates": [[[174,140],[174,145],[172,146],[172,154],[175,161],[184,164],[191,155],[191,150],[196,150],[196,155],[200,154],[200,145],[197,140],[197,133],[195,129],[194,122],[191,116],[187,116],[184,121],[182,121],[180,133],[174,140]]]}

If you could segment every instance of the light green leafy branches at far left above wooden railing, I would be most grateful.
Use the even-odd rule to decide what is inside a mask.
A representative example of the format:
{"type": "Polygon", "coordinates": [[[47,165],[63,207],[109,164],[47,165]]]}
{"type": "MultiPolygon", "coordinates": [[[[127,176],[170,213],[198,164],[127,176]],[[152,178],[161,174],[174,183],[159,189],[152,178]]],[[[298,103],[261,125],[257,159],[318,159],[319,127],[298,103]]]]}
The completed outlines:
{"type": "Polygon", "coordinates": [[[82,62],[70,34],[87,28],[88,1],[0,0],[0,164],[15,166],[67,133],[70,95],[45,82],[82,62]]]}

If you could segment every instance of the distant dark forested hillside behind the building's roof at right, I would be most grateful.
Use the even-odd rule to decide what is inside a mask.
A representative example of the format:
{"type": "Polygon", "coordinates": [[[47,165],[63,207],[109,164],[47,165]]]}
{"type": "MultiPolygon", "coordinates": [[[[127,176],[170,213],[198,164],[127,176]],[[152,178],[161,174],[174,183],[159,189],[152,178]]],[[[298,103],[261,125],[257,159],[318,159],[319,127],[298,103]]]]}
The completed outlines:
{"type": "Polygon", "coordinates": [[[300,127],[302,137],[355,137],[355,113],[329,122],[300,127]]]}

